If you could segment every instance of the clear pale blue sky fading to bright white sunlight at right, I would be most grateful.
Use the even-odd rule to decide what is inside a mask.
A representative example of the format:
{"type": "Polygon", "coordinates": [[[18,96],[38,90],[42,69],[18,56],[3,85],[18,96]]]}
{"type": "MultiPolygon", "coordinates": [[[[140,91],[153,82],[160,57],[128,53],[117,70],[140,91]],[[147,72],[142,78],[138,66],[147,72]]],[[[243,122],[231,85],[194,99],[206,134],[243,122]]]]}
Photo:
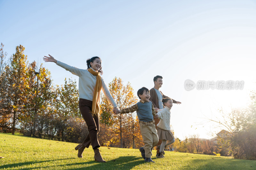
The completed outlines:
{"type": "MultiPolygon", "coordinates": [[[[182,102],[172,108],[175,136],[219,131],[205,117],[218,109],[242,107],[255,89],[256,1],[4,1],[0,0],[0,41],[8,56],[24,46],[29,62],[57,60],[86,68],[102,59],[104,80],[131,82],[135,92],[160,89],[182,102]],[[244,80],[243,90],[184,89],[184,81],[244,80]],[[191,127],[192,126],[192,127],[191,127]]],[[[44,63],[55,84],[78,77],[44,63]]]]}

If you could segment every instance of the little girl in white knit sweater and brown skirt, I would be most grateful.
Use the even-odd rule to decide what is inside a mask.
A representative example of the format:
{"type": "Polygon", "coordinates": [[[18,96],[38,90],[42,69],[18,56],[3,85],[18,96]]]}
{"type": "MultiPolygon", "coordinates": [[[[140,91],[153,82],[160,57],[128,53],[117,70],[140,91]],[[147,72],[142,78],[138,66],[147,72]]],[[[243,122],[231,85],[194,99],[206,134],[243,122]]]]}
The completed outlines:
{"type": "Polygon", "coordinates": [[[155,118],[161,119],[157,124],[157,135],[158,138],[162,140],[162,144],[160,145],[160,150],[157,158],[164,158],[164,147],[171,145],[173,142],[175,142],[170,127],[170,110],[172,108],[172,99],[164,98],[162,99],[162,102],[164,104],[164,109],[157,110],[157,114],[155,116],[155,118]]]}

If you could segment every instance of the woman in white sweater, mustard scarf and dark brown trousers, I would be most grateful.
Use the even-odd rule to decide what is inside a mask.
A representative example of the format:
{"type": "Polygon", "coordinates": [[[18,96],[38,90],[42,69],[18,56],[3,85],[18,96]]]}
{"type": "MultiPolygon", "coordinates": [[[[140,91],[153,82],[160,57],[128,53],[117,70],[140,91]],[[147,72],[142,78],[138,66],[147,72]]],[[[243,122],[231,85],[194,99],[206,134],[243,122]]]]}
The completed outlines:
{"type": "Polygon", "coordinates": [[[97,134],[99,133],[99,112],[100,112],[100,90],[102,89],[104,95],[113,106],[113,111],[118,113],[116,103],[111,96],[107,85],[102,77],[101,60],[99,57],[92,57],[87,59],[87,69],[78,69],[76,67],[69,66],[65,63],[57,61],[50,54],[50,57],[44,56],[45,62],[55,62],[58,66],[65,68],[72,74],[79,76],[79,109],[88,126],[89,134],[85,138],[83,144],[76,146],[78,150],[77,156],[83,158],[83,151],[92,144],[94,151],[94,160],[99,162],[106,162],[100,155],[97,134]]]}

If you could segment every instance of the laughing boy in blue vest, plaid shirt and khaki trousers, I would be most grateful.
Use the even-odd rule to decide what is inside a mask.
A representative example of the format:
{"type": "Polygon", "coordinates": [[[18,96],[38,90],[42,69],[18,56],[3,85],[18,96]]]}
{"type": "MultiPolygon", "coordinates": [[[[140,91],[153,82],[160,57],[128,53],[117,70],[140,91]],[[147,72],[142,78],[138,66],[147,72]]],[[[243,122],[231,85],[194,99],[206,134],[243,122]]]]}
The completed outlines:
{"type": "Polygon", "coordinates": [[[136,103],[132,107],[119,110],[118,113],[132,113],[137,111],[137,115],[140,123],[140,132],[145,145],[140,148],[141,156],[145,159],[145,162],[153,162],[151,159],[152,149],[158,143],[158,136],[155,127],[154,116],[156,116],[155,108],[152,102],[148,101],[150,95],[149,90],[142,87],[137,92],[140,102],[136,103]]]}

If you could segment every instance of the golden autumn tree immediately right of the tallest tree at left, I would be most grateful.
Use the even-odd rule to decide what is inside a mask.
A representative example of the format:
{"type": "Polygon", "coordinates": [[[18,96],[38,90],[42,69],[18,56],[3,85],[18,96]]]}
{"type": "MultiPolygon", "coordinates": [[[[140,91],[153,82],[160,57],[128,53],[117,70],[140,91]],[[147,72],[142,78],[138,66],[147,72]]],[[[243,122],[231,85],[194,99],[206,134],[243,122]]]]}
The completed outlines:
{"type": "Polygon", "coordinates": [[[26,100],[24,103],[24,110],[26,114],[23,115],[23,130],[27,133],[26,136],[36,137],[36,130],[39,138],[43,131],[44,117],[48,113],[49,107],[51,107],[51,99],[53,87],[51,84],[50,72],[43,67],[37,67],[36,61],[29,64],[26,74],[26,100]],[[40,119],[37,119],[38,114],[40,119]]]}

